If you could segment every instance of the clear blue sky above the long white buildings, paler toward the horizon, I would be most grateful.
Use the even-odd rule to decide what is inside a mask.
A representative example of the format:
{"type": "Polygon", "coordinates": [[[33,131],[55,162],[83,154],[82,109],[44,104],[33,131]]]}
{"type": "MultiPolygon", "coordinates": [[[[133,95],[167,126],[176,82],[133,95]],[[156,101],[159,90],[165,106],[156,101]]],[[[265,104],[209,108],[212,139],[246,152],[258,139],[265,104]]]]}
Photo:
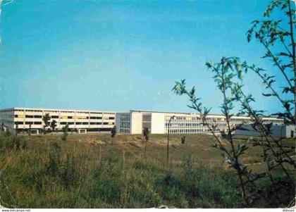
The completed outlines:
{"type": "MultiPolygon", "coordinates": [[[[206,61],[240,56],[271,68],[245,33],[266,0],[15,0],[1,14],[0,108],[191,111],[171,89],[187,79],[220,113],[206,61]]],[[[279,82],[280,83],[280,82],[279,82]]],[[[257,108],[278,111],[247,75],[257,108]]]]}

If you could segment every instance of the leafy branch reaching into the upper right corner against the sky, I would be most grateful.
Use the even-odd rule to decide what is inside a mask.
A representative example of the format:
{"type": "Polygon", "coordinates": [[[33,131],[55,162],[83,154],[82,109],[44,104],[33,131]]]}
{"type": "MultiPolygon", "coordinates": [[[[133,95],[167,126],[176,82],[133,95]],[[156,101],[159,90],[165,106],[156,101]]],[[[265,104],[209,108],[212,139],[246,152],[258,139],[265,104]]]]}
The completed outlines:
{"type": "Polygon", "coordinates": [[[262,58],[272,61],[273,66],[283,75],[282,94],[289,94],[291,99],[283,100],[283,97],[273,87],[275,76],[269,75],[261,68],[250,66],[264,82],[266,88],[271,89],[270,94],[264,96],[275,96],[283,107],[284,113],[277,113],[285,118],[287,123],[296,124],[296,51],[295,51],[295,8],[292,8],[290,0],[273,0],[264,12],[265,20],[254,20],[252,27],[247,31],[247,41],[253,38],[264,46],[266,50],[262,58]],[[285,20],[271,19],[271,14],[280,9],[285,20]],[[293,98],[293,99],[292,99],[293,98]],[[294,105],[294,114],[292,115],[294,105]]]}

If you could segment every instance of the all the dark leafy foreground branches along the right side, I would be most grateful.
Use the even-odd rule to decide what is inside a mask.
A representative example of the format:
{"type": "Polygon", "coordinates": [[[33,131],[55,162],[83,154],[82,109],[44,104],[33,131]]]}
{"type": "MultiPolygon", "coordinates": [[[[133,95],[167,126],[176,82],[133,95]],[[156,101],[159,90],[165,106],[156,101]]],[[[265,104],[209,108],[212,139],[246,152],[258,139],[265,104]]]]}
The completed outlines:
{"type": "Polygon", "coordinates": [[[284,11],[285,18],[288,19],[288,26],[290,26],[289,29],[283,27],[283,20],[255,20],[252,28],[247,32],[247,40],[250,42],[252,38],[255,38],[263,44],[266,49],[263,58],[269,58],[280,75],[283,75],[285,81],[281,82],[283,87],[281,93],[278,92],[279,88],[275,86],[276,75],[270,75],[263,68],[254,65],[249,66],[246,62],[241,62],[238,57],[221,58],[218,63],[206,63],[206,67],[214,73],[214,81],[223,96],[221,111],[226,117],[227,128],[217,130],[215,123],[209,124],[207,122],[206,116],[210,108],[204,107],[200,98],[196,97],[195,87],[187,90],[185,80],[176,82],[175,87],[173,87],[175,94],[185,94],[189,97],[191,104],[188,107],[201,114],[202,122],[214,135],[214,147],[221,149],[226,163],[235,170],[240,179],[239,187],[242,190],[242,197],[245,199],[246,206],[251,206],[254,201],[259,201],[257,197],[263,198],[269,206],[279,206],[282,201],[280,198],[276,198],[276,201],[270,201],[269,197],[277,195],[276,192],[283,185],[289,191],[294,191],[295,194],[295,160],[291,156],[295,153],[295,148],[285,148],[282,139],[273,136],[271,130],[273,123],[265,123],[264,111],[255,110],[251,106],[255,99],[252,95],[243,92],[241,81],[243,73],[249,73],[249,71],[255,73],[262,80],[266,89],[270,90],[270,92],[264,93],[263,96],[276,97],[283,106],[281,111],[272,115],[283,118],[286,124],[296,123],[295,10],[288,0],[273,0],[266,8],[264,17],[269,18],[276,8],[284,11]],[[262,173],[254,174],[242,163],[242,155],[247,150],[247,146],[234,141],[233,132],[244,123],[235,125],[235,127],[230,125],[230,119],[233,116],[231,111],[235,104],[240,106],[238,116],[249,116],[252,127],[260,135],[256,140],[252,138],[250,140],[252,140],[254,146],[262,147],[262,158],[268,168],[266,171],[263,170],[262,173]],[[228,142],[228,146],[224,145],[225,140],[228,142]],[[283,171],[283,177],[275,177],[276,171],[283,171]],[[271,188],[259,189],[257,181],[266,177],[271,181],[271,188]]]}

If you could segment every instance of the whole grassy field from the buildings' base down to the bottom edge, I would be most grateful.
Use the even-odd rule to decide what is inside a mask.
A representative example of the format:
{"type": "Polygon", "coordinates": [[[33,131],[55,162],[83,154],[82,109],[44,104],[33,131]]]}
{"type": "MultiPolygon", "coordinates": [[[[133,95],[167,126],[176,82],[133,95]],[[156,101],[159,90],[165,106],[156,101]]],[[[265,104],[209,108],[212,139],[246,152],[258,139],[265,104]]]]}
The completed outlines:
{"type": "MultiPolygon", "coordinates": [[[[150,135],[144,158],[142,135],[106,134],[0,137],[0,204],[17,208],[244,207],[238,180],[224,166],[210,135],[150,135]]],[[[240,137],[236,142],[248,139],[240,137]]],[[[287,147],[295,141],[288,140],[287,147]]],[[[225,144],[228,145],[228,144],[225,144]]],[[[245,163],[261,161],[249,145],[245,163]]],[[[255,172],[264,164],[250,165],[255,172]]],[[[268,187],[268,182],[262,182],[268,187]]],[[[280,194],[284,206],[294,194],[280,194]]],[[[264,201],[254,204],[267,207],[264,201]]]]}

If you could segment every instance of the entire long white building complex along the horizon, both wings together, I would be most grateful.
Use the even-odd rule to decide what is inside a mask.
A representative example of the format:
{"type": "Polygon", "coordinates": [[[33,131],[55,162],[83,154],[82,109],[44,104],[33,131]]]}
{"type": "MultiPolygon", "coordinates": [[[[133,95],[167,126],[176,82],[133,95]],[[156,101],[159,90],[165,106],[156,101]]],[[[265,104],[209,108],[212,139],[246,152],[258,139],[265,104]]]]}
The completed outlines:
{"type": "MultiPolygon", "coordinates": [[[[56,120],[56,132],[66,124],[73,132],[111,132],[116,125],[120,134],[142,134],[147,127],[152,134],[211,134],[208,127],[203,125],[199,113],[173,113],[159,111],[130,111],[125,113],[106,111],[78,111],[45,108],[7,108],[0,110],[0,125],[5,125],[11,132],[40,133],[44,129],[42,118],[49,114],[49,126],[56,120]]],[[[227,132],[226,118],[223,115],[208,115],[210,125],[216,125],[219,130],[227,132]]],[[[283,124],[282,119],[264,118],[266,123],[283,124]]],[[[251,118],[233,116],[230,125],[247,124],[251,118]]],[[[51,128],[51,127],[47,127],[51,128]]]]}

